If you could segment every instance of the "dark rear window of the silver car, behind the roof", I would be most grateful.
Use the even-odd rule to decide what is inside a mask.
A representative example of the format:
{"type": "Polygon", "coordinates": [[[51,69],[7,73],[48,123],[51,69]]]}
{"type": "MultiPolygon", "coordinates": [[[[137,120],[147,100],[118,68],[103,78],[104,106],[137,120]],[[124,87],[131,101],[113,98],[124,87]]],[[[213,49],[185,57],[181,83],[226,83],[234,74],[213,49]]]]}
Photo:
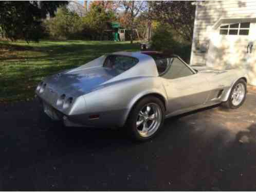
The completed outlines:
{"type": "Polygon", "coordinates": [[[138,63],[138,59],[123,55],[109,55],[103,63],[103,67],[116,69],[120,73],[129,70],[138,63]]]}

